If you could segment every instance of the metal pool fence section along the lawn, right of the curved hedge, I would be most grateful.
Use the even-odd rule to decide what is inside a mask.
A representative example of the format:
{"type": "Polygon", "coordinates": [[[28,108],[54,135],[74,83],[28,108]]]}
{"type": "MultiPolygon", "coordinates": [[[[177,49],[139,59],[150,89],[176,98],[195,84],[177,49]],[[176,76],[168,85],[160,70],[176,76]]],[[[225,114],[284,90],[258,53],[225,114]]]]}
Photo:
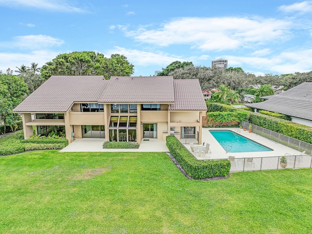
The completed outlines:
{"type": "MultiPolygon", "coordinates": [[[[277,170],[283,169],[280,159],[283,156],[259,157],[259,158],[231,158],[230,172],[252,171],[252,170],[277,170]]],[[[285,168],[299,169],[312,168],[312,155],[289,155],[285,156],[287,164],[285,168]]],[[[224,159],[224,158],[223,158],[224,159]]],[[[208,159],[222,160],[222,159],[208,159]]]]}

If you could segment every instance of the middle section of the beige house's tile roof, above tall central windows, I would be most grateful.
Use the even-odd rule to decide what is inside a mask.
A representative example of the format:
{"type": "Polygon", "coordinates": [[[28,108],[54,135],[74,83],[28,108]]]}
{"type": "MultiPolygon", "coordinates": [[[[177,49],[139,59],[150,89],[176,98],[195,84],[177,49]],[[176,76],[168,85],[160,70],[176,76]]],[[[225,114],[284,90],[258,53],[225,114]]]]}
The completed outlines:
{"type": "Polygon", "coordinates": [[[172,76],[112,76],[100,103],[173,103],[172,76]]]}

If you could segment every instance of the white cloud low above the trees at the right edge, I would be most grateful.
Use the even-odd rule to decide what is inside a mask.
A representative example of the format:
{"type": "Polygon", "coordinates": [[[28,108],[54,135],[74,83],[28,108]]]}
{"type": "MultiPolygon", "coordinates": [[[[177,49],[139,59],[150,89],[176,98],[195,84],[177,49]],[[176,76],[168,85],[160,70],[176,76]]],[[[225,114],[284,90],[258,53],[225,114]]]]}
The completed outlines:
{"type": "Polygon", "coordinates": [[[312,70],[312,49],[281,52],[274,57],[239,57],[226,56],[231,64],[243,67],[248,64],[255,69],[268,70],[280,74],[307,72],[312,70]]]}

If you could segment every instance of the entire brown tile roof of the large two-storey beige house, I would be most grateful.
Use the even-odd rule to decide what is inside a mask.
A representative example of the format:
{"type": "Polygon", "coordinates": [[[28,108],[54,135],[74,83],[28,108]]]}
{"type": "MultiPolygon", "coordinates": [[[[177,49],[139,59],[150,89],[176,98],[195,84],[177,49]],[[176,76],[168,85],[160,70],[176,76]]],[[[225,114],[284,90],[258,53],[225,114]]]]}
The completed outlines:
{"type": "Polygon", "coordinates": [[[74,102],[168,103],[173,110],[207,110],[198,80],[172,76],[51,76],[14,112],[66,112],[74,102]]]}

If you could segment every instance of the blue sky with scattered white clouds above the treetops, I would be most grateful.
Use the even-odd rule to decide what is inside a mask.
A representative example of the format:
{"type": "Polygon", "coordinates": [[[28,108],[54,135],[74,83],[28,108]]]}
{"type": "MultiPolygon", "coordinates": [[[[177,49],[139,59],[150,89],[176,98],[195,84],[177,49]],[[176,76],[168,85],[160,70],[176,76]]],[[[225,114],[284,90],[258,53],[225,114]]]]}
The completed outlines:
{"type": "Polygon", "coordinates": [[[312,70],[312,1],[0,0],[0,70],[58,54],[123,54],[134,76],[171,62],[245,72],[312,70]]]}

